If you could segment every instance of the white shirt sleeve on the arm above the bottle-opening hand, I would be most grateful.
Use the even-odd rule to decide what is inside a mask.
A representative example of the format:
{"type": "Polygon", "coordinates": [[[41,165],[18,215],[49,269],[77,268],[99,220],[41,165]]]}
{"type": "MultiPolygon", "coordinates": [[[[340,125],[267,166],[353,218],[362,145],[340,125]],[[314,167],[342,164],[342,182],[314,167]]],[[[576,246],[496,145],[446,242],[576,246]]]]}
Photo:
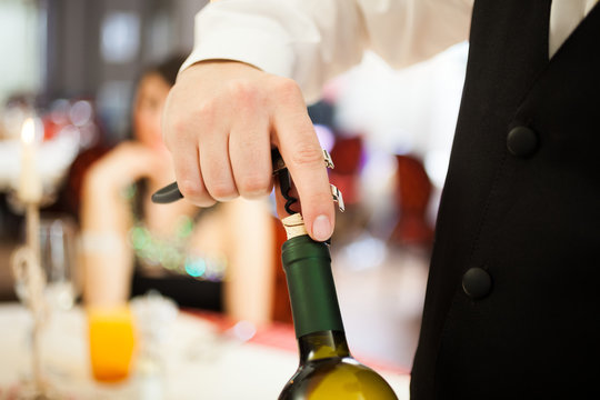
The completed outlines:
{"type": "Polygon", "coordinates": [[[196,16],[182,69],[243,61],[294,79],[310,101],[366,49],[399,68],[466,40],[471,8],[472,0],[221,0],[196,16]]]}

